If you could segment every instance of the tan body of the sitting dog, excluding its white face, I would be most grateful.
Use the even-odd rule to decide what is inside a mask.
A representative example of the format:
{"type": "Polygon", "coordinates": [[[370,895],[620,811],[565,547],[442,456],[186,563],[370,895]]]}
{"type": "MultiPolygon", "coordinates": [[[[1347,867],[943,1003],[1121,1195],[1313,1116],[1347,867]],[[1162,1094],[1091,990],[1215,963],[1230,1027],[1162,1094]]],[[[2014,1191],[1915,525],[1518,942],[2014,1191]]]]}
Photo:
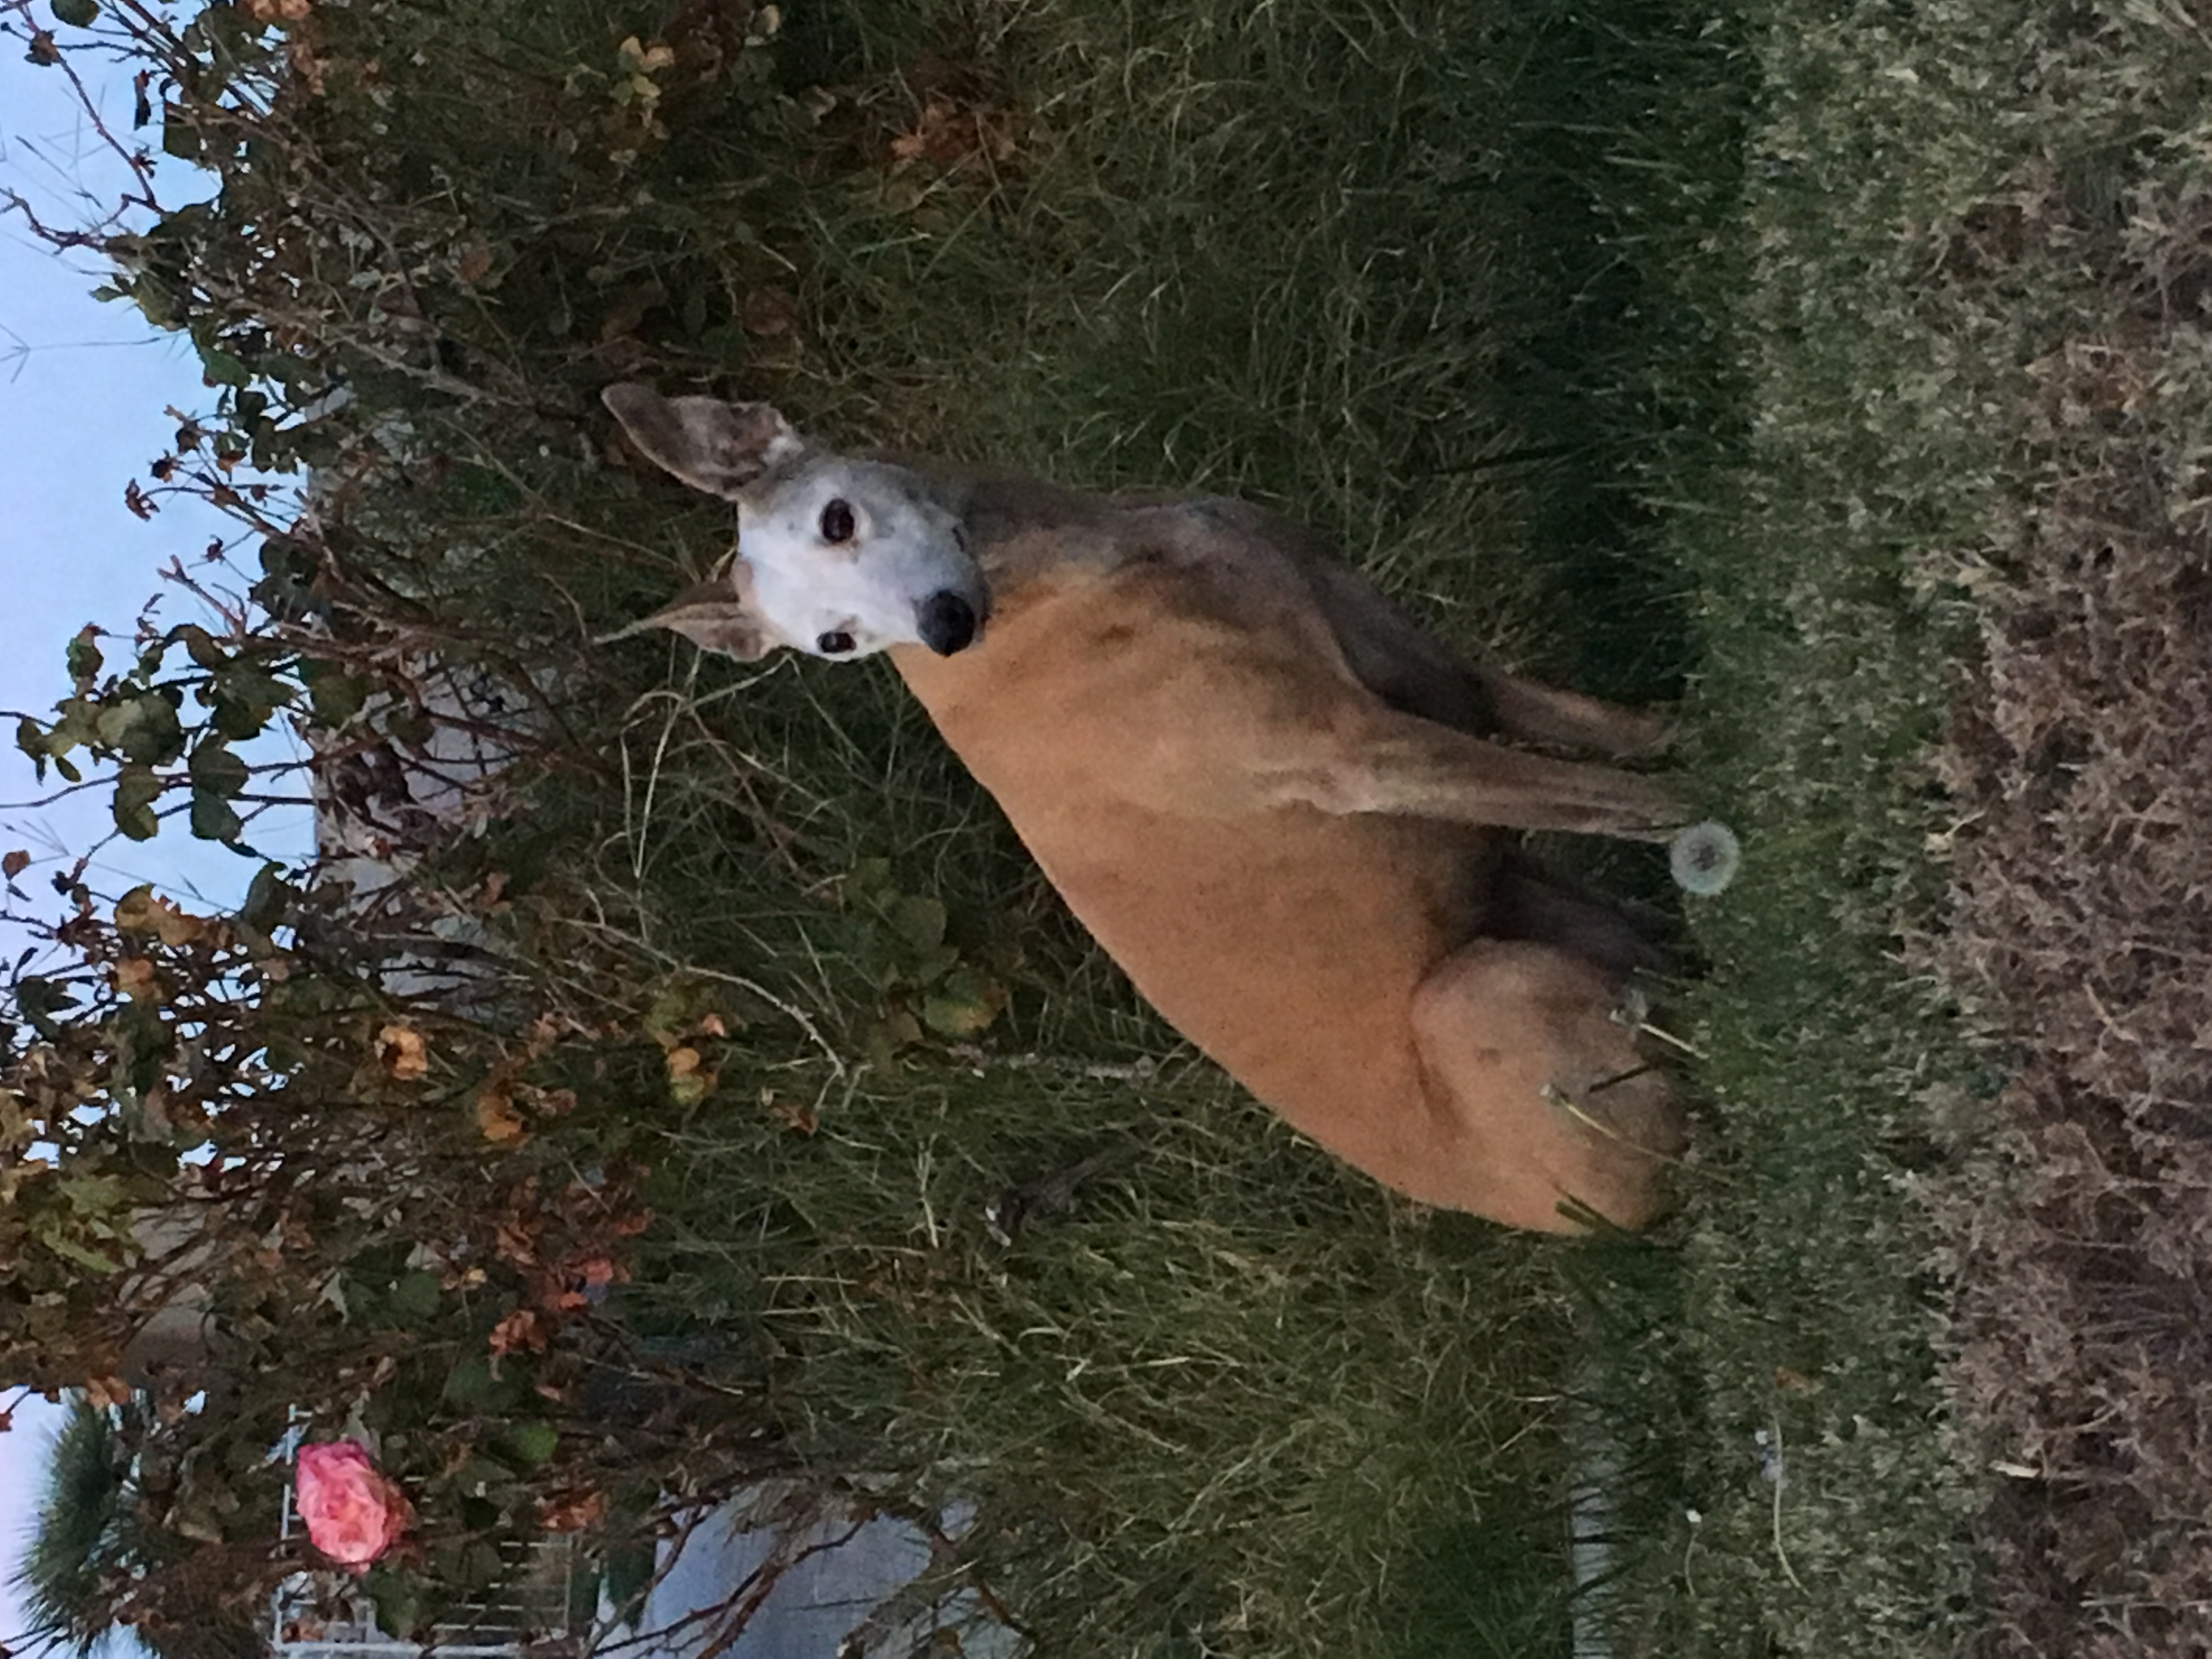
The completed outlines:
{"type": "MultiPolygon", "coordinates": [[[[666,425],[615,407],[648,456],[717,487],[666,425]]],[[[763,511],[776,487],[721,493],[763,511]]],[[[1681,1119],[1615,1018],[1639,947],[1511,832],[1652,838],[1681,814],[1648,779],[1493,739],[1621,757],[1659,723],[1462,668],[1241,502],[920,487],[960,526],[987,622],[949,655],[883,644],[1146,1000],[1400,1192],[1542,1230],[1573,1228],[1573,1206],[1650,1219],[1681,1119]]],[[[721,582],[728,615],[706,591],[657,619],[732,648],[723,624],[761,619],[743,571],[721,582]]]]}

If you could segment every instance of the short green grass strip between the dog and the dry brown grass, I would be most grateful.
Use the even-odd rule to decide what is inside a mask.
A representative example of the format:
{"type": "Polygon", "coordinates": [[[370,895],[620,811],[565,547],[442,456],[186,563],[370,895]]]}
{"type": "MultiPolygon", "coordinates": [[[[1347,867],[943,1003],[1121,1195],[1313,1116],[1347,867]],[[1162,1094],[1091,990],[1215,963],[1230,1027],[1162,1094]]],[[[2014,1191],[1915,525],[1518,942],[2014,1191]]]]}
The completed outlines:
{"type": "Polygon", "coordinates": [[[1747,863],[1692,914],[1710,1104],[1661,1345],[1692,1389],[1644,1495],[1637,1652],[1951,1652],[1975,1624],[1916,1186],[1982,1079],[1900,967],[1942,925],[1927,757],[1973,646],[1929,557],[1982,533],[2004,442],[1918,228],[1995,188],[1938,71],[2011,24],[1949,22],[1750,11],[1743,217],[1728,285],[1688,290],[1734,314],[1747,434],[1697,500],[1652,484],[1697,608],[1686,759],[1747,863]]]}

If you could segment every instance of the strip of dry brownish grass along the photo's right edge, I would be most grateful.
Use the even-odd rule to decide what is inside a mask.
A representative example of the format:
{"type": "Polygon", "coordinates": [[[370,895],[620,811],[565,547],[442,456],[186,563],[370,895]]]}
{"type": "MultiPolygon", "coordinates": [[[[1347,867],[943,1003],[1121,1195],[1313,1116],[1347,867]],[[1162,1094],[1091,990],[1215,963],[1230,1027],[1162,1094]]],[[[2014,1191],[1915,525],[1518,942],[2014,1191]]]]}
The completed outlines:
{"type": "Polygon", "coordinates": [[[2124,221],[2055,177],[2011,206],[2110,310],[2033,365],[2044,487],[1980,573],[1951,732],[1942,958],[2008,1066],[1949,1192],[1951,1380],[2000,1471],[1989,1652],[2179,1659],[2212,1641],[2212,201],[2112,184],[2124,221]]]}

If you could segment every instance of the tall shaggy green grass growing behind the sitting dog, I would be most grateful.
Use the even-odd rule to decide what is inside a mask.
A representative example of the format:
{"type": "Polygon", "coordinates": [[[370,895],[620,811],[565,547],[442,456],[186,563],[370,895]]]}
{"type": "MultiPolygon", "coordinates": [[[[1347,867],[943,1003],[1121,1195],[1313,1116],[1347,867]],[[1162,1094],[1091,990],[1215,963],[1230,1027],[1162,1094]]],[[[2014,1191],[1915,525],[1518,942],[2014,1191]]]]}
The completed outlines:
{"type": "MultiPolygon", "coordinates": [[[[513,29],[533,62],[591,55],[582,24],[513,29]]],[[[1694,29],[1657,7],[823,7],[772,55],[825,88],[803,188],[743,124],[670,102],[633,210],[529,228],[469,349],[520,341],[580,400],[613,349],[836,438],[1239,491],[1469,648],[1626,695],[1679,681],[1641,447],[1710,442],[1725,387],[1661,385],[1710,341],[1646,341],[1661,296],[1599,230],[1728,197],[1723,146],[1663,204],[1619,190],[1681,137],[1666,122],[1730,131],[1732,71],[1694,29]],[[1655,97],[1657,64],[1714,102],[1655,97]],[[973,142],[894,164],[933,119],[973,142]]],[[[498,106],[409,95],[420,133],[498,106]]],[[[507,166],[546,164],[518,144],[507,166]]],[[[436,580],[480,584],[453,604],[511,606],[531,560],[544,599],[518,622],[573,595],[604,626],[728,533],[664,480],[431,420],[471,458],[440,484],[476,553],[436,580]]],[[[573,1006],[730,1029],[703,1099],[648,1104],[650,1048],[577,1091],[655,1170],[644,1336],[765,1391],[816,1467],[975,1502],[964,1571],[1042,1652],[1564,1648],[1568,1252],[1409,1210],[1199,1064],[887,675],[655,644],[584,675],[586,741],[456,876],[507,876],[573,1006]],[[911,1022],[940,949],[1006,991],[971,1042],[911,1022]],[[1071,1212],[991,1234],[995,1197],[1095,1155],[1071,1212]]]]}

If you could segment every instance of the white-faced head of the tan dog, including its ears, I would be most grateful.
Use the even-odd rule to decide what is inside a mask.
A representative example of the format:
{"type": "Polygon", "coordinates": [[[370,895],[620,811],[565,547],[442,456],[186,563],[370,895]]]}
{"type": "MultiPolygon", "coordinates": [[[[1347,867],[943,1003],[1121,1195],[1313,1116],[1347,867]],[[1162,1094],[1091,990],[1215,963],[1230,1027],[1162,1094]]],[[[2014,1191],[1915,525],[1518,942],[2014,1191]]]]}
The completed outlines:
{"type": "Polygon", "coordinates": [[[776,646],[949,657],[982,633],[991,591],[960,520],[914,473],[812,449],[761,403],[664,398],[641,385],[602,398],[644,456],[737,507],[730,560],[639,628],[675,628],[741,659],[776,646]]]}

